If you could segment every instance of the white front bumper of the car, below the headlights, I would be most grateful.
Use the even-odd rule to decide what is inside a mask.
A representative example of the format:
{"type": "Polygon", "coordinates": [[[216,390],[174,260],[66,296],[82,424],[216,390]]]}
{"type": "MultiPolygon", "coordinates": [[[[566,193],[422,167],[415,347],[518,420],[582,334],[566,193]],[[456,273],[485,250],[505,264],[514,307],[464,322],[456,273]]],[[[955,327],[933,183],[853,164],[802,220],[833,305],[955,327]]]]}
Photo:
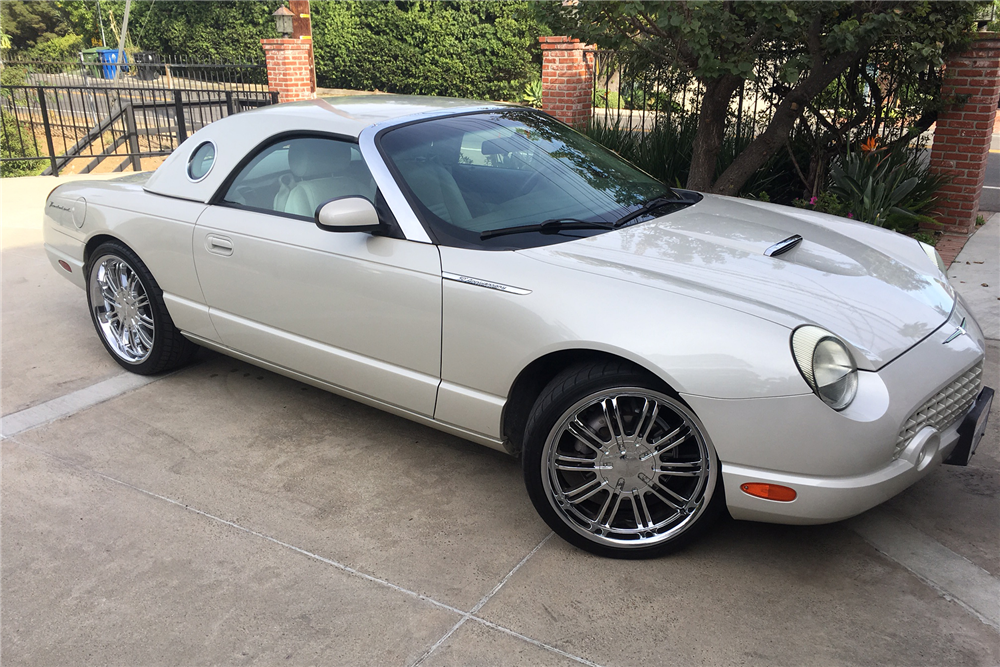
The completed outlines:
{"type": "Polygon", "coordinates": [[[858,397],[842,412],[812,394],[742,401],[684,398],[718,452],[734,518],[828,523],[888,500],[949,457],[970,408],[947,423],[919,425],[913,433],[906,427],[912,430],[921,407],[947,394],[984,357],[982,332],[959,303],[948,323],[905,354],[878,372],[862,372],[858,397]],[[967,335],[945,343],[963,318],[970,322],[967,335]],[[751,496],[740,488],[751,482],[788,486],[797,496],[791,502],[751,496]]]}

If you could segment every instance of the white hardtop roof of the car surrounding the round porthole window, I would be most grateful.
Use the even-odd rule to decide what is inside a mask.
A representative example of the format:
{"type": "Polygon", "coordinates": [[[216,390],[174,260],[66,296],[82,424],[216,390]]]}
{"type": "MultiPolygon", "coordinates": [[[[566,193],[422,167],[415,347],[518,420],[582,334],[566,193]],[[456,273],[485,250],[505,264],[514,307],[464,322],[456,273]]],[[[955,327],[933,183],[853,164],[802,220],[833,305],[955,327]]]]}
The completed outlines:
{"type": "Polygon", "coordinates": [[[321,97],[259,107],[217,120],[192,134],[150,176],[144,187],[158,195],[208,202],[247,153],[279,134],[322,132],[356,139],[365,128],[375,125],[502,106],[507,105],[451,97],[381,94],[321,97]],[[203,179],[193,182],[187,176],[188,161],[208,141],[215,144],[215,162],[203,179]]]}

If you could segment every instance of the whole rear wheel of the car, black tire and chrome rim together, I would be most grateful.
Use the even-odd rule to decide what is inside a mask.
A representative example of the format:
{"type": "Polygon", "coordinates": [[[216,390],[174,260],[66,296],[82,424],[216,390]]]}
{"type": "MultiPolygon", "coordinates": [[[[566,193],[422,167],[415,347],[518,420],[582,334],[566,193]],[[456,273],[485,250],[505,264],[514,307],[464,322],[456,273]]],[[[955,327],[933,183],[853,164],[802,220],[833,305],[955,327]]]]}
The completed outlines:
{"type": "MultiPolygon", "coordinates": [[[[183,366],[191,360],[198,346],[182,336],[174,326],[170,313],[163,303],[163,290],[131,248],[120,241],[102,243],[91,253],[86,271],[87,306],[90,309],[91,321],[104,348],[122,368],[139,375],[155,375],[183,366]],[[122,268],[123,265],[132,273],[128,274],[128,271],[122,268]],[[145,344],[146,338],[133,335],[129,340],[136,341],[137,349],[131,349],[122,344],[116,335],[116,331],[121,331],[121,327],[115,327],[110,322],[110,320],[119,322],[116,310],[111,305],[116,302],[104,298],[105,291],[110,285],[107,273],[112,269],[109,267],[127,274],[128,284],[133,285],[137,280],[138,286],[141,287],[141,293],[145,295],[146,301],[142,301],[141,298],[136,299],[134,303],[125,306],[129,309],[127,312],[124,308],[121,312],[126,314],[129,321],[137,324],[134,327],[136,332],[141,327],[143,335],[151,338],[151,344],[145,344]],[[148,320],[152,323],[149,324],[148,320]]],[[[114,289],[129,292],[122,287],[122,282],[125,281],[118,281],[114,289]]],[[[139,289],[132,289],[131,293],[139,293],[139,289]]]]}

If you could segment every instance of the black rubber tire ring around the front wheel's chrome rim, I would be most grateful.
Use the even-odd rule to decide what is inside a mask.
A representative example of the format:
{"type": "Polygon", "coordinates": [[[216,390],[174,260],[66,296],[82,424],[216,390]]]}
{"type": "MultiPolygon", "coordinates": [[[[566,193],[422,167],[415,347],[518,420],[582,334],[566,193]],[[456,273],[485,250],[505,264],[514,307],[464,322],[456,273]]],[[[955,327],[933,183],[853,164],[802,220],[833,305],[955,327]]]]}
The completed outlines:
{"type": "MultiPolygon", "coordinates": [[[[639,371],[629,371],[616,375],[613,380],[608,377],[585,380],[576,384],[572,390],[555,397],[554,400],[542,407],[541,410],[538,410],[538,406],[536,405],[536,409],[532,410],[525,428],[524,449],[522,452],[524,482],[528,496],[531,498],[531,502],[539,515],[549,527],[567,542],[599,556],[622,559],[655,558],[676,551],[697,538],[714,523],[725,507],[722,470],[715,447],[708,438],[704,425],[701,424],[690,408],[684,406],[682,401],[673,398],[674,401],[677,401],[686,408],[690,416],[695,418],[695,423],[701,429],[702,436],[705,439],[705,446],[711,460],[710,465],[715,466],[716,474],[714,482],[706,482],[706,484],[713,484],[711,487],[705,489],[705,494],[711,494],[708,505],[702,510],[700,516],[678,535],[647,547],[614,547],[594,542],[566,524],[565,520],[552,506],[549,493],[546,490],[545,476],[548,475],[548,470],[543,462],[543,456],[549,435],[552,429],[557,426],[559,419],[567,410],[586,396],[601,391],[625,387],[646,389],[669,396],[659,383],[651,380],[648,374],[639,371]]],[[[545,396],[546,393],[547,391],[543,391],[542,396],[545,396]]]]}

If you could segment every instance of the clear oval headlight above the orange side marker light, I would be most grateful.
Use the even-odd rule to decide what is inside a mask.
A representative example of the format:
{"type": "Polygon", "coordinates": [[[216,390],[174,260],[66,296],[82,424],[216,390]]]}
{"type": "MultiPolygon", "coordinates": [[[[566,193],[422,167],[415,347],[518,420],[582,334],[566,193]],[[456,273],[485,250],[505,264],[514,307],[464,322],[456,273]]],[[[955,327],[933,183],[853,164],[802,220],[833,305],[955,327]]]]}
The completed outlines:
{"type": "Polygon", "coordinates": [[[792,356],[824,403],[834,410],[851,404],[858,393],[858,365],[842,340],[826,329],[799,327],[792,333],[792,356]]]}

